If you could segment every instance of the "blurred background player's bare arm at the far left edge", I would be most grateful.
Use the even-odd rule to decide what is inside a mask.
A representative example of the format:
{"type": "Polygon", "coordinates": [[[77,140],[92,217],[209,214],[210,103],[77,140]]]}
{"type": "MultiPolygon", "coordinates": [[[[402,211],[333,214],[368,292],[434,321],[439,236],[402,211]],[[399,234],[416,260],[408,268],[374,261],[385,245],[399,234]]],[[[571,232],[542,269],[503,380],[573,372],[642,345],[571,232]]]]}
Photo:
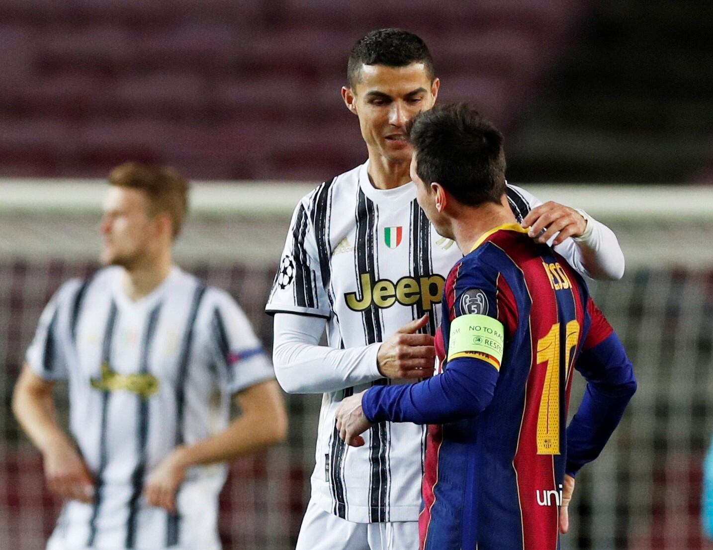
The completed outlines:
{"type": "Polygon", "coordinates": [[[59,426],[53,399],[54,382],[24,365],[15,385],[12,412],[43,457],[49,489],[67,499],[91,502],[93,480],[71,439],[59,426]]]}

